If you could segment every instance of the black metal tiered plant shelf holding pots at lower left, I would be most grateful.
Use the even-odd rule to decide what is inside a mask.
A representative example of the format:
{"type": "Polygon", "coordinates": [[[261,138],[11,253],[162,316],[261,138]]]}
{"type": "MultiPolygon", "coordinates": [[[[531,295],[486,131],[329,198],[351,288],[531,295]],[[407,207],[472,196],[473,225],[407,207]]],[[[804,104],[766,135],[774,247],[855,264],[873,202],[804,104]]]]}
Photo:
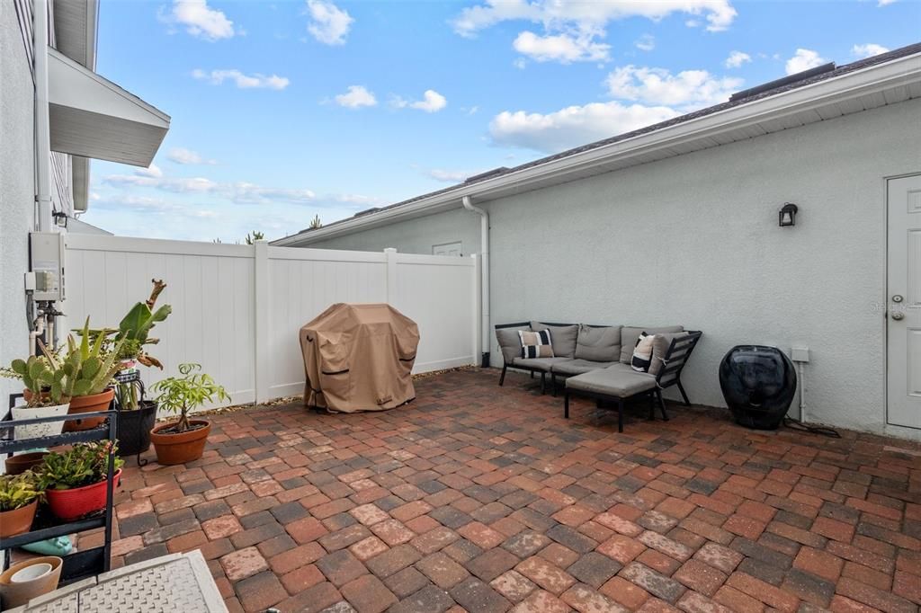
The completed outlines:
{"type": "MultiPolygon", "coordinates": [[[[9,406],[12,409],[14,402],[20,394],[10,394],[9,406]]],[[[74,415],[61,415],[57,417],[41,417],[30,420],[11,419],[12,411],[7,411],[3,420],[0,421],[0,456],[9,457],[17,451],[25,451],[37,447],[54,447],[58,445],[74,445],[75,443],[87,443],[91,441],[102,441],[116,439],[116,425],[118,420],[117,411],[96,411],[92,413],[76,413],[74,415]],[[54,434],[52,436],[40,436],[38,438],[29,438],[22,441],[13,440],[13,428],[17,425],[31,425],[37,423],[49,422],[72,422],[75,420],[87,419],[92,417],[108,418],[99,427],[91,430],[82,430],[78,432],[65,432],[54,434]]],[[[51,513],[42,513],[36,515],[32,523],[32,529],[24,534],[18,534],[15,537],[0,538],[0,549],[3,549],[3,570],[9,568],[12,549],[35,543],[48,538],[64,537],[76,532],[85,532],[95,528],[102,527],[105,529],[105,540],[99,547],[75,551],[63,556],[64,564],[61,568],[61,585],[74,583],[81,579],[86,579],[99,573],[106,573],[110,570],[111,563],[111,542],[112,542],[112,497],[115,490],[115,454],[109,455],[109,470],[107,475],[106,487],[106,508],[99,513],[88,515],[76,521],[59,523],[60,520],[52,517],[51,513]]],[[[40,513],[41,513],[40,509],[40,513]]],[[[44,510],[47,511],[47,510],[44,510]]]]}

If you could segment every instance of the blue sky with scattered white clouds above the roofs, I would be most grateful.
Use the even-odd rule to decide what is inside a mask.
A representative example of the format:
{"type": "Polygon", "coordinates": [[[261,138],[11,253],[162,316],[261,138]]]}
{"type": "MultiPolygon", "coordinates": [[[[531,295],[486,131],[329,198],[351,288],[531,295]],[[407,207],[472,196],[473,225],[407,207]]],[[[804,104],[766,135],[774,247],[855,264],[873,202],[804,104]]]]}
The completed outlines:
{"type": "Polygon", "coordinates": [[[84,221],[283,237],[918,41],[921,3],[101,0],[97,72],[172,117],[84,221]]]}

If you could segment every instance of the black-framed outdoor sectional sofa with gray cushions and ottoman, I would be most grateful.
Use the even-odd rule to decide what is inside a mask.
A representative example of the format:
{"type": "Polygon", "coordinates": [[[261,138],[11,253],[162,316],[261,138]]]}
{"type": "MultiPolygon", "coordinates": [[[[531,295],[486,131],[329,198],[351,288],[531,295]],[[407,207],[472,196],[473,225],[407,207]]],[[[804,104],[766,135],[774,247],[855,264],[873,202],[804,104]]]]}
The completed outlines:
{"type": "Polygon", "coordinates": [[[503,385],[508,368],[541,374],[541,393],[546,391],[547,375],[556,395],[556,383],[565,378],[564,416],[569,418],[570,395],[602,401],[616,401],[617,430],[624,432],[624,400],[639,395],[649,397],[649,418],[655,419],[655,402],[659,402],[662,419],[668,420],[662,390],[676,386],[684,404],[690,404],[682,387],[684,364],[694,351],[702,332],[684,330],[682,326],[588,326],[585,324],[529,323],[495,327],[495,337],[502,351],[503,385]],[[554,357],[523,358],[519,330],[550,330],[554,357]],[[630,364],[640,333],[655,334],[652,361],[647,373],[637,372],[630,364]]]}

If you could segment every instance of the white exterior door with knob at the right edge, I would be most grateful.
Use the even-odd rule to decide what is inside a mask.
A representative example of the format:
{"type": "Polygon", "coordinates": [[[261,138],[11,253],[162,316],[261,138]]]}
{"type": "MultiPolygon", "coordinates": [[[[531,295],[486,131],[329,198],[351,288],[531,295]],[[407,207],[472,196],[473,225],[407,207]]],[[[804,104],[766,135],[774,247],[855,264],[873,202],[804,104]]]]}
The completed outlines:
{"type": "Polygon", "coordinates": [[[921,175],[888,185],[888,422],[921,428],[921,175]]]}

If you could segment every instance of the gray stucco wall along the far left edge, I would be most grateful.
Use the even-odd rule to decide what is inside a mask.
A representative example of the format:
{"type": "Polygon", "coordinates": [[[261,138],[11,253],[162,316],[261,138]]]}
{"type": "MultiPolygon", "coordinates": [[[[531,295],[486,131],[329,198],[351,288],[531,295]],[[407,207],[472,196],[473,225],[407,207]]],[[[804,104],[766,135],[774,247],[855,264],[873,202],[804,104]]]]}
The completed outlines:
{"type": "MultiPolygon", "coordinates": [[[[0,75],[0,364],[6,365],[29,350],[22,275],[35,195],[32,76],[12,2],[0,3],[0,75]]],[[[21,387],[0,378],[3,410],[8,394],[21,387]]]]}

